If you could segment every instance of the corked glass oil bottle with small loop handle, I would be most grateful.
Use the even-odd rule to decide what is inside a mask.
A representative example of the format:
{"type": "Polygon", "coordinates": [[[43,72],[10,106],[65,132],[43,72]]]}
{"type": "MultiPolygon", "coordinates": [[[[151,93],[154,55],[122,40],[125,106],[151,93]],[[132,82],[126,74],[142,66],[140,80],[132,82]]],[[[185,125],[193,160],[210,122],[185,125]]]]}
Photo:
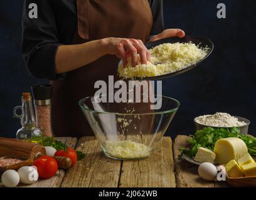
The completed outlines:
{"type": "Polygon", "coordinates": [[[33,111],[30,93],[22,94],[22,106],[16,106],[13,109],[13,117],[21,119],[21,126],[17,133],[16,139],[31,143],[39,143],[43,138],[41,129],[36,127],[36,119],[33,111]],[[17,114],[18,109],[21,114],[17,114]]]}

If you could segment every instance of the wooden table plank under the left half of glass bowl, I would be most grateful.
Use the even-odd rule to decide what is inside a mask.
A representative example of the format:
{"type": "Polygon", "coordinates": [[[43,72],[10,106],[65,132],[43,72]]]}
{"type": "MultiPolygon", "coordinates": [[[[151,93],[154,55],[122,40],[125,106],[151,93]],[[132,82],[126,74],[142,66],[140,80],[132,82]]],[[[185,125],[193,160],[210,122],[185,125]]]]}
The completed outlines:
{"type": "Polygon", "coordinates": [[[61,187],[118,186],[121,161],[107,158],[99,141],[94,137],[81,138],[77,150],[85,153],[85,158],[68,170],[61,187]]]}

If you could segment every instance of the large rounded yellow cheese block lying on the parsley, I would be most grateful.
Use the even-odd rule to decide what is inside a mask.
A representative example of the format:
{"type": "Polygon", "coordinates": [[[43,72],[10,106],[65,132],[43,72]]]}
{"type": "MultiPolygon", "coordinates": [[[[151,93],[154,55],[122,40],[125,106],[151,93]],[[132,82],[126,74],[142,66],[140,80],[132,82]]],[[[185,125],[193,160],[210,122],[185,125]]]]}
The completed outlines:
{"type": "Polygon", "coordinates": [[[246,144],[239,138],[219,139],[215,143],[216,163],[227,164],[231,160],[238,161],[248,153],[246,144]]]}

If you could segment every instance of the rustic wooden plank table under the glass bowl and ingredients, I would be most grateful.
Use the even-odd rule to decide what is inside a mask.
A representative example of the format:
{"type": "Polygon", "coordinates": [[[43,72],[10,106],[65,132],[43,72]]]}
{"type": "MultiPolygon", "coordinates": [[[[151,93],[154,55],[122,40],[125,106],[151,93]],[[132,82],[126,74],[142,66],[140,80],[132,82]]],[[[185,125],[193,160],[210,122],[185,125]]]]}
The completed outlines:
{"type": "MultiPolygon", "coordinates": [[[[227,187],[225,182],[200,179],[197,167],[179,161],[179,147],[188,136],[178,136],[174,143],[164,137],[151,158],[142,161],[115,161],[105,156],[94,137],[57,138],[85,153],[67,172],[60,169],[51,179],[19,187],[227,187]]],[[[0,185],[1,187],[1,185],[0,185]]]]}

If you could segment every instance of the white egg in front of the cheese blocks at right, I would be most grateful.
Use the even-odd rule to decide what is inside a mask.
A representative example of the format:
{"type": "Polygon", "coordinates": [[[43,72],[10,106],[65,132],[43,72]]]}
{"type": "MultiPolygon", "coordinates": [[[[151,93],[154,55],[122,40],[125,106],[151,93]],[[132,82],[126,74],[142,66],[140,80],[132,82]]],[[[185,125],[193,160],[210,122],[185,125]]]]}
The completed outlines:
{"type": "Polygon", "coordinates": [[[202,163],[198,168],[198,174],[202,179],[206,181],[213,181],[216,179],[218,170],[214,164],[202,163]]]}

